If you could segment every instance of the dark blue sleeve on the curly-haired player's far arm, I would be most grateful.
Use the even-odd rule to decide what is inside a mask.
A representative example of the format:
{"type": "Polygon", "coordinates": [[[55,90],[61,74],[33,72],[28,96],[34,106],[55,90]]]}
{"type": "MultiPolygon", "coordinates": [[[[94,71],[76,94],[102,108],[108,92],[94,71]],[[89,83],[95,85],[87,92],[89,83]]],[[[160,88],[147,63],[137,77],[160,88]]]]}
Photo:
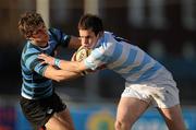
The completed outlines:
{"type": "Polygon", "coordinates": [[[49,28],[49,32],[59,45],[61,45],[62,47],[69,46],[71,35],[66,35],[62,31],[57,28],[49,28]]]}

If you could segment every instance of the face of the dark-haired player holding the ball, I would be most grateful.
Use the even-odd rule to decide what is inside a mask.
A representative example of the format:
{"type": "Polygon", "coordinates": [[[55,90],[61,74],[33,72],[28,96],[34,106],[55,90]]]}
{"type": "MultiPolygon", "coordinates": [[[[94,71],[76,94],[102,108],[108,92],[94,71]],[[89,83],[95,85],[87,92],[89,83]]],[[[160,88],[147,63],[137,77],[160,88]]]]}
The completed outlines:
{"type": "Polygon", "coordinates": [[[94,48],[99,39],[99,35],[95,35],[91,29],[79,29],[79,37],[82,46],[86,48],[94,48]]]}

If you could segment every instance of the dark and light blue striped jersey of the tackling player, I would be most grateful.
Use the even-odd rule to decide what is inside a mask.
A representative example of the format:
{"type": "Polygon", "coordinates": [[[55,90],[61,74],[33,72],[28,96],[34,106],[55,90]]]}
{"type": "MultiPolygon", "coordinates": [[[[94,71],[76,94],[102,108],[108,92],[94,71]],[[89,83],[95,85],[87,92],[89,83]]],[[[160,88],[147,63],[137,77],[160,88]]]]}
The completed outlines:
{"type": "Polygon", "coordinates": [[[22,96],[28,99],[44,98],[52,95],[52,81],[44,76],[47,64],[42,64],[37,59],[39,54],[47,54],[54,56],[54,51],[59,45],[68,46],[70,36],[63,34],[61,31],[51,28],[49,34],[48,46],[40,48],[33,45],[29,40],[26,43],[21,58],[22,68],[22,96]]]}

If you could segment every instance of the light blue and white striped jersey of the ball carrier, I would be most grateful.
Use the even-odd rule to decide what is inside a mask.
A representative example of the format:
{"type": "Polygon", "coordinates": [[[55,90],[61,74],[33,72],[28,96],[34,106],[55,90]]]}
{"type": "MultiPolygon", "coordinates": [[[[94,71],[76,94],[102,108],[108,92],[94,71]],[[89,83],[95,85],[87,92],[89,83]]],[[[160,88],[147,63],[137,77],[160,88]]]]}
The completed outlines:
{"type": "Polygon", "coordinates": [[[151,81],[160,70],[170,73],[137,46],[110,32],[103,33],[90,56],[85,59],[88,69],[95,70],[102,64],[121,74],[130,83],[151,81]]]}

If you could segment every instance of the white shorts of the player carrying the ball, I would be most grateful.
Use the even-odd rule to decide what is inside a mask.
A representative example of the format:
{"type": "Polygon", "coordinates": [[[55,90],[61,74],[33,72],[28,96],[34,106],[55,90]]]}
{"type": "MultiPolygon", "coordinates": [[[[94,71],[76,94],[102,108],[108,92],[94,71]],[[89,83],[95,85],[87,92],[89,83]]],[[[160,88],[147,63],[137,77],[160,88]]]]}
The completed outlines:
{"type": "Polygon", "coordinates": [[[157,86],[152,83],[131,84],[125,83],[125,90],[121,97],[134,97],[149,103],[159,108],[170,108],[180,104],[176,86],[157,86]]]}

